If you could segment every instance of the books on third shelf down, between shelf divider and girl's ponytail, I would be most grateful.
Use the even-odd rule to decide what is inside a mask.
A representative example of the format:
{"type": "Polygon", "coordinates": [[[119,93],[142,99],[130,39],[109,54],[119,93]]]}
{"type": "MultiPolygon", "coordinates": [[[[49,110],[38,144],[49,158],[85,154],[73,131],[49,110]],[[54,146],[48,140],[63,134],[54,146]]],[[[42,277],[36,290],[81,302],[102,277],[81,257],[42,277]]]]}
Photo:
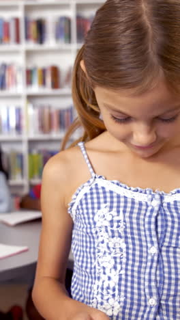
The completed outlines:
{"type": "Polygon", "coordinates": [[[57,109],[52,105],[33,105],[27,103],[29,135],[52,134],[64,132],[74,120],[72,105],[57,109]]]}

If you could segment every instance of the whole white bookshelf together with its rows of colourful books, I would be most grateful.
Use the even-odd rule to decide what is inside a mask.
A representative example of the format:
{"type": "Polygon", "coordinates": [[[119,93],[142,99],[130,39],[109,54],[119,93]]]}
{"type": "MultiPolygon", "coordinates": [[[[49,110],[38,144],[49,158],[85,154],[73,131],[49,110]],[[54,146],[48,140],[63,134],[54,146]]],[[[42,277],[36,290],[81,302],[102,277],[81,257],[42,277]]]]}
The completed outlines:
{"type": "MultiPolygon", "coordinates": [[[[37,178],[40,174],[31,172],[32,157],[38,162],[59,151],[64,128],[74,116],[72,66],[82,46],[82,34],[104,1],[0,0],[0,144],[5,157],[10,157],[10,165],[20,163],[17,174],[15,170],[10,175],[10,187],[15,193],[18,190],[20,195],[26,194],[30,185],[41,182],[37,178]],[[2,23],[6,29],[2,29],[2,23]],[[2,30],[6,34],[1,37],[2,30]],[[14,107],[20,109],[20,116],[14,114],[16,120],[11,116],[14,107]],[[3,111],[5,108],[7,111],[3,111]],[[12,113],[7,116],[7,126],[12,129],[11,123],[16,122],[16,131],[3,131],[1,117],[9,111],[12,113]]],[[[79,132],[72,141],[78,139],[79,132]]]]}

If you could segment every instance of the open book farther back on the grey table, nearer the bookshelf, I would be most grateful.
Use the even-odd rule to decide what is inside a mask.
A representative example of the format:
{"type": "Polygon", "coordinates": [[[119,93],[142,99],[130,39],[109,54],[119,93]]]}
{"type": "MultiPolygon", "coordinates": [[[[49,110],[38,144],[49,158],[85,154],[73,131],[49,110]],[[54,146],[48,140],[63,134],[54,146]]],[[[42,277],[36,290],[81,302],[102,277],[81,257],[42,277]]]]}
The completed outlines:
{"type": "Polygon", "coordinates": [[[41,211],[20,210],[11,213],[0,213],[0,222],[9,226],[16,226],[16,224],[22,224],[40,217],[42,217],[41,211]]]}

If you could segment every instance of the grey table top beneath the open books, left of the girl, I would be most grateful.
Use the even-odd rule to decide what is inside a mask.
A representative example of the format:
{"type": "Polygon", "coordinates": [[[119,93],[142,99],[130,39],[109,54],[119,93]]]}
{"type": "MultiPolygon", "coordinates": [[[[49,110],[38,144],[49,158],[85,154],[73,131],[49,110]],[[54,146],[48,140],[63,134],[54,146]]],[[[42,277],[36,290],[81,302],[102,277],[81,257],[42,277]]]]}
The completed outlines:
{"type": "MultiPolygon", "coordinates": [[[[0,223],[0,243],[26,245],[29,250],[0,260],[0,280],[10,280],[29,272],[37,262],[41,231],[41,220],[26,222],[16,226],[0,223]]],[[[72,267],[73,256],[70,252],[69,267],[72,267]]]]}

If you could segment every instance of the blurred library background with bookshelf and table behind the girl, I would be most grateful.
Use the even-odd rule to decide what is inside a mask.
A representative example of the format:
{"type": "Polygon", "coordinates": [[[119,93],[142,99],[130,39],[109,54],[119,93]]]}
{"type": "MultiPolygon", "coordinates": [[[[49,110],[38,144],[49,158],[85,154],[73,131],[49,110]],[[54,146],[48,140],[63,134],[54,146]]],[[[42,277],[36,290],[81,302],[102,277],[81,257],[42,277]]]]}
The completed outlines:
{"type": "MultiPolygon", "coordinates": [[[[0,0],[0,320],[42,319],[31,299],[42,170],[76,117],[72,66],[103,2],[0,0]]],[[[69,291],[72,269],[70,257],[69,291]]]]}

